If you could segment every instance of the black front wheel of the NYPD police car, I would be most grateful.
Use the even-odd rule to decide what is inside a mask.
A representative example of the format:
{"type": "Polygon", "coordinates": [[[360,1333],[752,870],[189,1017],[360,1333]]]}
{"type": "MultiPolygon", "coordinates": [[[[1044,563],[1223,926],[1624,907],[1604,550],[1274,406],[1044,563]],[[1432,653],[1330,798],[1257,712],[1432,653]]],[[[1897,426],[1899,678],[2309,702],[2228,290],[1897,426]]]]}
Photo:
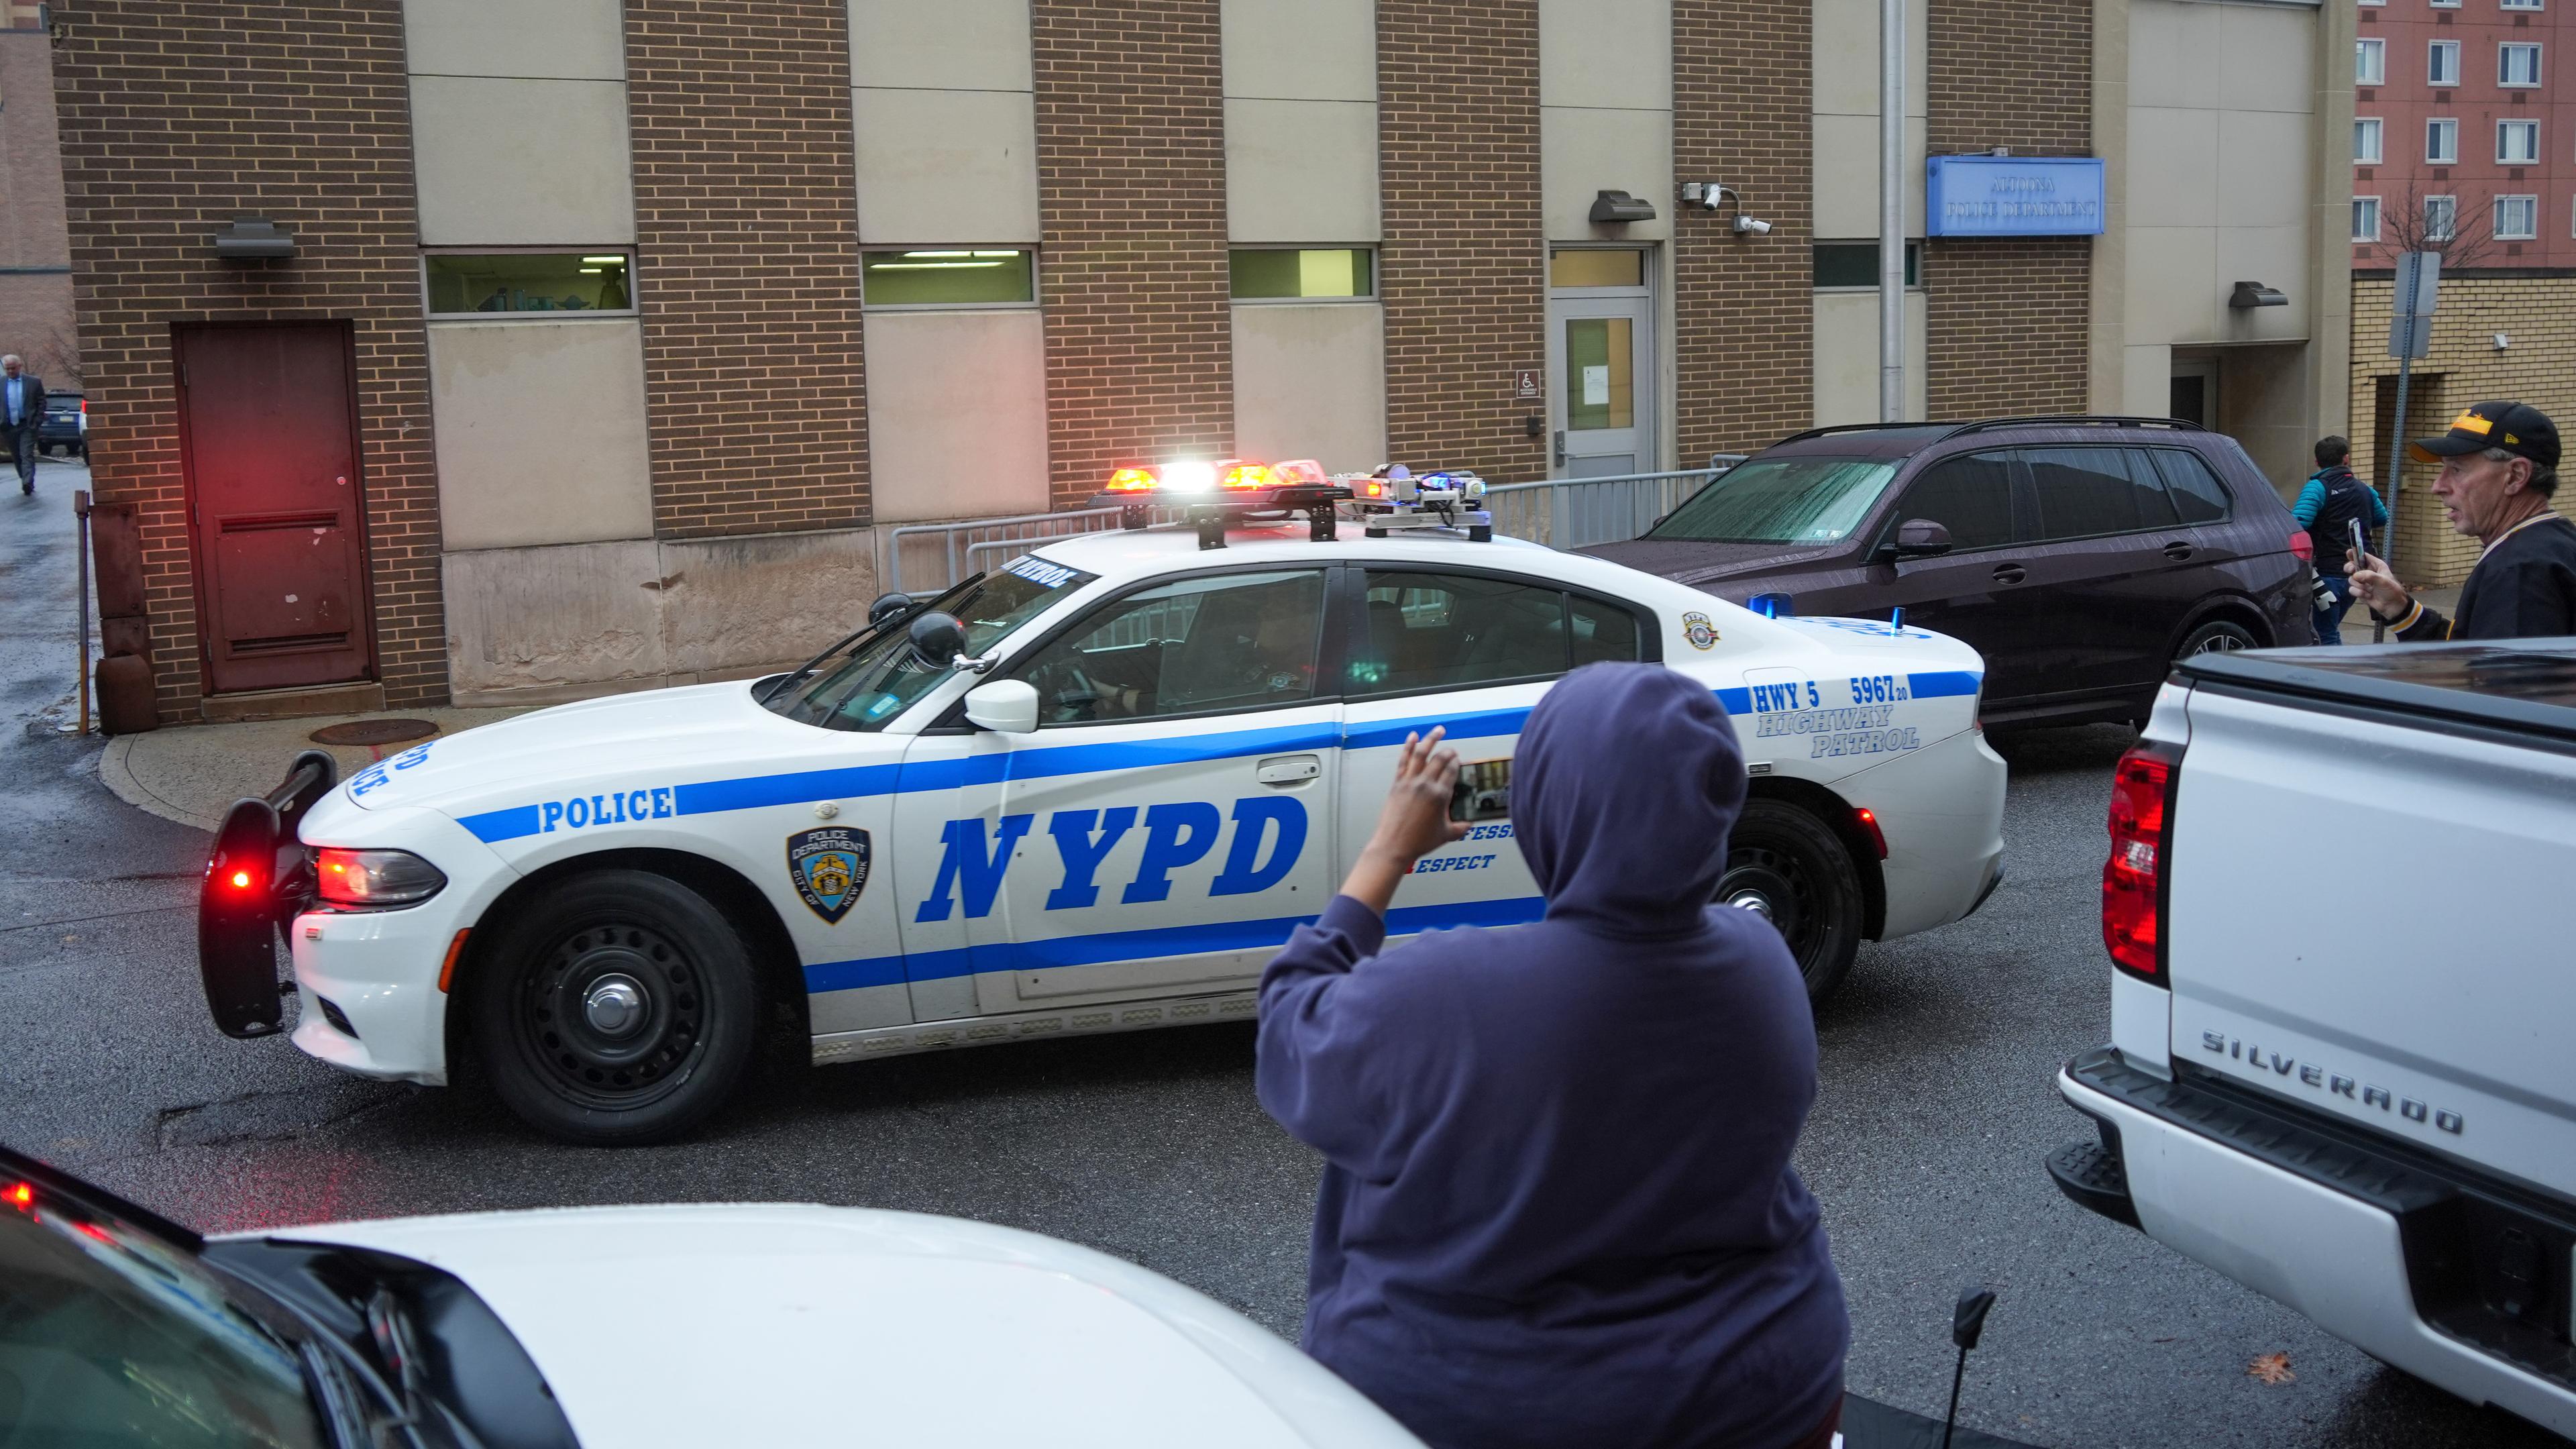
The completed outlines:
{"type": "Polygon", "coordinates": [[[742,936],[703,895],[592,871],[528,902],[474,982],[492,1088],[567,1142],[659,1142],[716,1111],[760,1026],[742,936]]]}

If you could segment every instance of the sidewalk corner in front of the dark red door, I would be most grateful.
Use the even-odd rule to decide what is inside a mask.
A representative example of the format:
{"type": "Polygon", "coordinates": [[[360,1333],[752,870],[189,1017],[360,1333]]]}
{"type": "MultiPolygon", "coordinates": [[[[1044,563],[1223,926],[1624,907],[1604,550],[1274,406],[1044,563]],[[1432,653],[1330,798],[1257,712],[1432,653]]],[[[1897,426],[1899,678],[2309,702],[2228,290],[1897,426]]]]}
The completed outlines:
{"type": "MultiPolygon", "coordinates": [[[[286,779],[286,763],[299,750],[327,748],[340,761],[340,779],[363,771],[384,755],[399,755],[420,740],[399,745],[314,745],[312,732],[350,719],[428,719],[438,735],[507,719],[523,709],[399,709],[353,714],[348,719],[250,719],[242,724],[183,724],[118,735],[98,758],[98,781],[116,799],[149,810],[180,825],[214,830],[224,810],[245,794],[268,794],[286,779]]],[[[435,737],[435,735],[425,735],[435,737]]]]}

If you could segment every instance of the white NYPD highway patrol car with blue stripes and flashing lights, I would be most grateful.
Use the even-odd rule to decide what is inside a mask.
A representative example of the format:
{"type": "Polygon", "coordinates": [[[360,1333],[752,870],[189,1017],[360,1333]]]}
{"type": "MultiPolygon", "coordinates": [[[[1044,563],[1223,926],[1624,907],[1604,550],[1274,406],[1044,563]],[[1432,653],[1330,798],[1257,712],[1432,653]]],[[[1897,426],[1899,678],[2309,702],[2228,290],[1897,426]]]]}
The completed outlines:
{"type": "MultiPolygon", "coordinates": [[[[644,1142],[714,1111],[778,1008],[817,1062],[1249,1021],[1404,737],[1510,758],[1592,660],[1659,660],[1734,714],[1752,799],[1718,900],[1770,918],[1814,995],[1999,882],[2004,761],[1955,639],[1468,541],[1481,513],[1337,521],[1350,487],[1311,464],[1188,482],[1218,503],[889,596],[788,676],[544,709],[348,781],[299,758],[216,835],[216,1024],[281,1029],[283,926],[301,1049],[433,1085],[471,1055],[538,1129],[644,1142]]],[[[1123,469],[1121,500],[1141,523],[1170,482],[1123,469]]],[[[1543,913],[1510,820],[1414,877],[1396,936],[1543,913]]]]}

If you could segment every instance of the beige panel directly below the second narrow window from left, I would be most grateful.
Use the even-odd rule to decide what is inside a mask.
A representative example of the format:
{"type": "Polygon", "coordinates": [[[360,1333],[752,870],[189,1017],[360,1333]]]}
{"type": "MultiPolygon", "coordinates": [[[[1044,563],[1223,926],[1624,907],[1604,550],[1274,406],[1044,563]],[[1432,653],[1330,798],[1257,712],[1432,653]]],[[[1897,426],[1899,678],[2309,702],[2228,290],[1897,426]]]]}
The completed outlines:
{"type": "Polygon", "coordinates": [[[1036,309],[868,315],[881,523],[1046,511],[1043,327],[1036,309]]]}

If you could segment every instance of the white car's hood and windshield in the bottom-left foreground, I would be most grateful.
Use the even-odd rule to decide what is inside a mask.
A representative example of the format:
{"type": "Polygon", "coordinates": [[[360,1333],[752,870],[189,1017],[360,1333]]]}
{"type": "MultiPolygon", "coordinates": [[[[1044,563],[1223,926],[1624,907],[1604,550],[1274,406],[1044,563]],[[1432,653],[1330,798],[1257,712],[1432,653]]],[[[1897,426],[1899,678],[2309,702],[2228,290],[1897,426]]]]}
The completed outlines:
{"type": "Polygon", "coordinates": [[[0,1387],[0,1439],[46,1446],[1422,1444],[1244,1315],[1012,1227],[696,1204],[206,1240],[8,1150],[0,1387]]]}

